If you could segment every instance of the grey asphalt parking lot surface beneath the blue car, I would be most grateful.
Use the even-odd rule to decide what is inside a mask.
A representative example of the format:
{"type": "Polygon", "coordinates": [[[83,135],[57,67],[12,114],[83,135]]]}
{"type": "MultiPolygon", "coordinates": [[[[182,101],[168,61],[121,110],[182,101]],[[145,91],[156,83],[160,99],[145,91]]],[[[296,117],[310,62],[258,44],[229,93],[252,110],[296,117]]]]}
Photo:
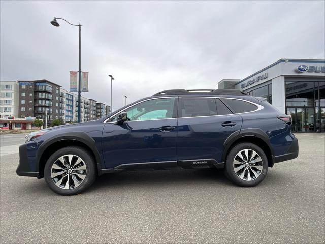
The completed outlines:
{"type": "Polygon", "coordinates": [[[325,135],[297,137],[299,157],[253,188],[217,170],[122,172],[64,197],[17,176],[18,154],[6,154],[0,242],[324,243],[325,135]]]}

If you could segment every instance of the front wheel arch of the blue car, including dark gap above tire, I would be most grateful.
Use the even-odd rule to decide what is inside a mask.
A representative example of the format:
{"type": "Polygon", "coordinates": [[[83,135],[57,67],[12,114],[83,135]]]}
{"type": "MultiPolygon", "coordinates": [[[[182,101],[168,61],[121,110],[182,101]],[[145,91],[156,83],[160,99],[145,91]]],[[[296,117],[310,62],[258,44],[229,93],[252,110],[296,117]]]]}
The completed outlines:
{"type": "Polygon", "coordinates": [[[81,146],[87,149],[95,158],[98,172],[100,174],[102,170],[102,159],[99,151],[96,149],[95,141],[89,137],[86,133],[66,133],[64,135],[57,135],[53,138],[44,141],[38,149],[37,152],[37,165],[36,168],[39,169],[39,178],[44,177],[44,166],[47,162],[49,156],[53,151],[66,146],[81,146]],[[81,133],[81,134],[80,134],[81,133]]]}

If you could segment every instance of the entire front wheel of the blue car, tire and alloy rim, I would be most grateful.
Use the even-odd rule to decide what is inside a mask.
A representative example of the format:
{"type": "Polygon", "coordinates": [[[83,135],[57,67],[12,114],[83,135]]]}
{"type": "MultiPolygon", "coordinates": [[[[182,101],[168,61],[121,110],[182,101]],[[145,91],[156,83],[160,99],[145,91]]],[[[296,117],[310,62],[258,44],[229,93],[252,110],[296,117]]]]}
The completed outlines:
{"type": "Polygon", "coordinates": [[[63,147],[46,162],[44,178],[51,190],[58,194],[78,194],[95,181],[95,160],[82,147],[63,147]]]}

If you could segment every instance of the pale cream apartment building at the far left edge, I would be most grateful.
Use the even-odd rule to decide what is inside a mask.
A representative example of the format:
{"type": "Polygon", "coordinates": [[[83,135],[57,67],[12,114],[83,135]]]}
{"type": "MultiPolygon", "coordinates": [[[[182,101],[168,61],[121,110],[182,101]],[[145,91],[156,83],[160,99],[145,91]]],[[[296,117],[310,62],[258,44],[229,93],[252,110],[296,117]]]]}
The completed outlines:
{"type": "Polygon", "coordinates": [[[0,118],[18,117],[19,82],[0,82],[0,118]]]}

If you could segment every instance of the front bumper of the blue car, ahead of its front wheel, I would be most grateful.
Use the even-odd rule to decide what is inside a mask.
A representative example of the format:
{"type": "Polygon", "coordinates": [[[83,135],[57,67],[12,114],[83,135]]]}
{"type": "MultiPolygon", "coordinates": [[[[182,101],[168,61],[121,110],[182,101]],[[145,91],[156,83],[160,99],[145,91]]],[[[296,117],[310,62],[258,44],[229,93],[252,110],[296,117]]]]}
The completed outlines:
{"type": "MultiPolygon", "coordinates": [[[[39,177],[38,171],[32,171],[30,161],[34,157],[33,154],[28,155],[27,147],[33,147],[33,145],[28,145],[29,143],[25,143],[19,146],[19,164],[16,169],[16,173],[20,176],[31,176],[31,177],[39,177]]],[[[30,148],[29,148],[30,149],[30,148]]]]}

